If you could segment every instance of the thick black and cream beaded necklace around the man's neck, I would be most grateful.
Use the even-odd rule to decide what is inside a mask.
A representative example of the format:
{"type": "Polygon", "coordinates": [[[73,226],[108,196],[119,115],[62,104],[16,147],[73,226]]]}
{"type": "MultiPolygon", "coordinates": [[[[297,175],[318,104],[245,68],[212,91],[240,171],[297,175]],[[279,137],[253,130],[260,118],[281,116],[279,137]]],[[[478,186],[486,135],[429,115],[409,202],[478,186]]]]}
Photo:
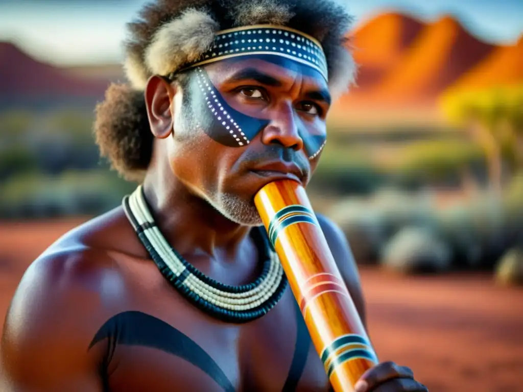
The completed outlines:
{"type": "Polygon", "coordinates": [[[287,287],[278,256],[272,250],[263,226],[251,230],[252,238],[264,260],[263,271],[248,284],[232,286],[219,283],[188,263],[160,232],[139,186],[122,201],[123,209],[143,246],[163,276],[189,302],[226,322],[247,322],[272,309],[287,287]]]}

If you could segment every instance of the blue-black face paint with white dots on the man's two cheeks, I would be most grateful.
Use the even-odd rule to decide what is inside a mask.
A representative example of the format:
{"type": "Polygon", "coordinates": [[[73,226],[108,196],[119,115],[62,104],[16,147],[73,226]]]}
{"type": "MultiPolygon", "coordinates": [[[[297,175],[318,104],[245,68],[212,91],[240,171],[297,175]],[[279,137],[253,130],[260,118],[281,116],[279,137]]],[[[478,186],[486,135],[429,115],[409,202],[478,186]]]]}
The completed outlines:
{"type": "MultiPolygon", "coordinates": [[[[197,67],[190,72],[190,107],[212,140],[228,147],[242,147],[270,123],[270,119],[247,116],[230,107],[203,68],[197,67]]],[[[311,133],[300,125],[298,134],[309,159],[314,159],[325,146],[325,131],[311,133]]]]}

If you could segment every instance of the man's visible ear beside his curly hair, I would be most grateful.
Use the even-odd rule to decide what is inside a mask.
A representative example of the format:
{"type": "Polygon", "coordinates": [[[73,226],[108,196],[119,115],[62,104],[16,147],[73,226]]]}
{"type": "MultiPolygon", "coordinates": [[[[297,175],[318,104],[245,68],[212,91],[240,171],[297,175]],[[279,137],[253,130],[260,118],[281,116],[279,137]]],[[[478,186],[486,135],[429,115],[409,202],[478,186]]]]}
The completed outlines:
{"type": "Polygon", "coordinates": [[[153,75],[145,86],[144,98],[151,132],[158,139],[165,139],[173,132],[173,112],[171,102],[176,93],[165,78],[153,75]]]}

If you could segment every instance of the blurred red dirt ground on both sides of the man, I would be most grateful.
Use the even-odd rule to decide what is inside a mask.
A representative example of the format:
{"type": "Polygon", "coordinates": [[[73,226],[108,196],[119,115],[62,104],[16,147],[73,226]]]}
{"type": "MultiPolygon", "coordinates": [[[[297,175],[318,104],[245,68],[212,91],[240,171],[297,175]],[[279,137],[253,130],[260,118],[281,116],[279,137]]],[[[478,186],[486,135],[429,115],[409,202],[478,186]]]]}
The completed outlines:
{"type": "MultiPolygon", "coordinates": [[[[0,223],[0,318],[31,260],[82,219],[0,223]]],[[[410,366],[431,392],[523,392],[523,290],[486,275],[405,278],[361,270],[381,361],[410,366]]]]}

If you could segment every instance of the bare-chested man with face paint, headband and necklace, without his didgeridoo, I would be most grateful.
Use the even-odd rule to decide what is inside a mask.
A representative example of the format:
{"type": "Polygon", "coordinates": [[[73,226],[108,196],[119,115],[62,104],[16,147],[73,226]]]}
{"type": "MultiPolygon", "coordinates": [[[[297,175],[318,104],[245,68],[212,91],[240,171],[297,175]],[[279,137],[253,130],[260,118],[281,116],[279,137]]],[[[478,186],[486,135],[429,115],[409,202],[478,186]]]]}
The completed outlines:
{"type": "MultiPolygon", "coordinates": [[[[129,85],[97,143],[140,186],[27,270],[2,338],[3,391],[327,391],[254,206],[305,186],[354,64],[330,0],[158,0],[129,25],[129,85]],[[341,88],[340,88],[341,87],[341,88]]],[[[346,240],[318,216],[365,320],[346,240]]],[[[379,364],[358,391],[425,391],[379,364]]]]}

